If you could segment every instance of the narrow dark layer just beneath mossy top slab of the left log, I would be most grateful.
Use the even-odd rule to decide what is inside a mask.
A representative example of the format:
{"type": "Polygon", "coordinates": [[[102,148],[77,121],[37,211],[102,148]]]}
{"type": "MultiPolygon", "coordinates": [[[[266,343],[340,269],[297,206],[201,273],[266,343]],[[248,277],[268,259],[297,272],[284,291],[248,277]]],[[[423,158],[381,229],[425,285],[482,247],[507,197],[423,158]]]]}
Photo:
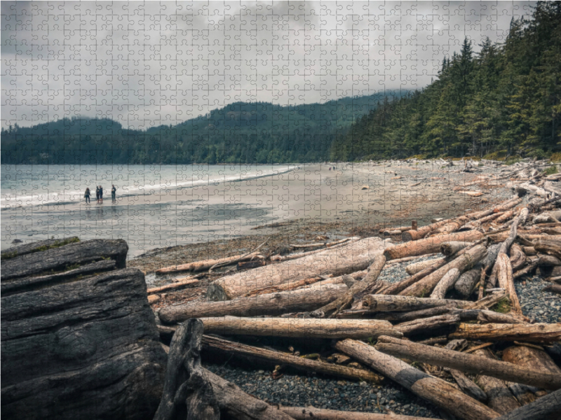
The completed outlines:
{"type": "Polygon", "coordinates": [[[13,295],[14,293],[22,293],[34,290],[40,287],[55,286],[67,281],[73,281],[78,276],[90,276],[102,272],[108,272],[116,268],[114,260],[101,260],[90,262],[76,269],[62,272],[60,274],[50,274],[39,277],[23,277],[22,279],[12,279],[11,281],[2,281],[0,283],[0,291],[2,296],[13,295]]]}

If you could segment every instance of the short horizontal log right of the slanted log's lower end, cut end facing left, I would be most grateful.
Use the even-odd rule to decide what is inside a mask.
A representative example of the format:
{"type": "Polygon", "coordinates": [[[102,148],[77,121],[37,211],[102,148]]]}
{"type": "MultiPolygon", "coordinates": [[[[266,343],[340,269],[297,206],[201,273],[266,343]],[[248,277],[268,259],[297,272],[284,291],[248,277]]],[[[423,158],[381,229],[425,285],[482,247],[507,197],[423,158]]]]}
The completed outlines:
{"type": "Polygon", "coordinates": [[[464,307],[464,300],[433,299],[428,297],[366,295],[363,297],[363,309],[370,312],[405,312],[419,311],[433,307],[464,307]]]}

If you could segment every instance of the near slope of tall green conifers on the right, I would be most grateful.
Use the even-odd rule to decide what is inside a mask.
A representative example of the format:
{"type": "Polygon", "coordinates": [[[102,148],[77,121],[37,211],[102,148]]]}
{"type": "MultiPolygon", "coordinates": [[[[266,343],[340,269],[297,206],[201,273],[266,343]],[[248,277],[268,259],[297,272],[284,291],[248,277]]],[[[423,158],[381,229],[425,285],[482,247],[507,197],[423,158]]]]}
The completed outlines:
{"type": "Polygon", "coordinates": [[[438,79],[385,98],[336,139],[332,160],[410,155],[549,157],[561,151],[561,3],[538,3],[513,20],[504,43],[477,54],[467,39],[438,79]]]}

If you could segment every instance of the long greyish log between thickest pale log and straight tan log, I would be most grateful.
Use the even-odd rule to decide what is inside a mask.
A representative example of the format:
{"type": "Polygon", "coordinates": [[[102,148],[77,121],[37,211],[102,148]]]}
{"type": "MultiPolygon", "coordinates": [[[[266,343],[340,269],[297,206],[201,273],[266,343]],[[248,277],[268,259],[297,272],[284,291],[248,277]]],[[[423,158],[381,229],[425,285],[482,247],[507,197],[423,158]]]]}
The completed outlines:
{"type": "Polygon", "coordinates": [[[189,318],[280,315],[292,311],[312,311],[337,299],[346,290],[347,286],[344,284],[325,284],[320,288],[238,297],[226,302],[194,301],[162,308],[159,316],[164,323],[180,323],[189,318]]]}

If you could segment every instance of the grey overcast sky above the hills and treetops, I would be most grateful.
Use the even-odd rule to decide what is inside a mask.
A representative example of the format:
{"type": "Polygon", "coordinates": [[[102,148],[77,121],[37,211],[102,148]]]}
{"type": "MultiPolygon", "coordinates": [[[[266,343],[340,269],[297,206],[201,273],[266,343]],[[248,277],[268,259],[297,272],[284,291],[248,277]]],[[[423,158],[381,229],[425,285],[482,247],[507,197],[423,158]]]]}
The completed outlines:
{"type": "Polygon", "coordinates": [[[467,36],[530,1],[1,2],[4,127],[177,124],[232,102],[302,104],[431,83],[467,36]]]}

